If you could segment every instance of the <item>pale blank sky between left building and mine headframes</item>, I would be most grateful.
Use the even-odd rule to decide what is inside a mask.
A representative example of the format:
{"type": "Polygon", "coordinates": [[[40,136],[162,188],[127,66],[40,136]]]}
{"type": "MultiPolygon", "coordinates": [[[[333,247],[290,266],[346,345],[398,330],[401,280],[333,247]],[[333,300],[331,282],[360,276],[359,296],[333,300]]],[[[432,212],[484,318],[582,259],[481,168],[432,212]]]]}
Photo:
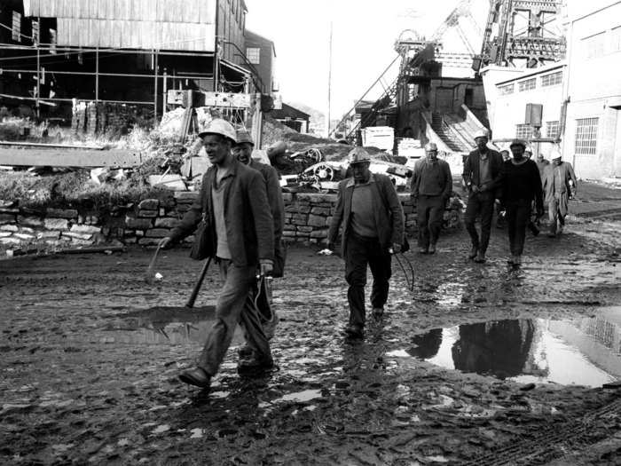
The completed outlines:
{"type": "MultiPolygon", "coordinates": [[[[410,28],[431,36],[458,3],[246,0],[246,27],[275,43],[275,78],[283,101],[302,102],[325,112],[332,21],[331,119],[335,119],[350,110],[397,56],[394,43],[403,30],[410,28]]],[[[397,75],[398,60],[395,66],[386,79],[387,86],[397,75]]]]}

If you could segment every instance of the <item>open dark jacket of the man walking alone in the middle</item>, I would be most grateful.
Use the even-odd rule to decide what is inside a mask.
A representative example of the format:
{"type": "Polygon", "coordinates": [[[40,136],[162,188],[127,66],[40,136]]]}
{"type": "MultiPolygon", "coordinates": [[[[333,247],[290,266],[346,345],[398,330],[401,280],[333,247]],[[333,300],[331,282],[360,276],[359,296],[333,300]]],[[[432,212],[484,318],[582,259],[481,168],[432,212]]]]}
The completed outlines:
{"type": "MultiPolygon", "coordinates": [[[[369,182],[373,186],[373,214],[377,238],[382,250],[393,244],[404,244],[404,210],[395,191],[395,186],[386,175],[372,173],[369,182]]],[[[354,193],[354,178],[343,179],[336,195],[336,208],[328,230],[328,241],[334,243],[342,228],[342,257],[345,257],[347,239],[350,234],[351,199],[354,193]]]]}

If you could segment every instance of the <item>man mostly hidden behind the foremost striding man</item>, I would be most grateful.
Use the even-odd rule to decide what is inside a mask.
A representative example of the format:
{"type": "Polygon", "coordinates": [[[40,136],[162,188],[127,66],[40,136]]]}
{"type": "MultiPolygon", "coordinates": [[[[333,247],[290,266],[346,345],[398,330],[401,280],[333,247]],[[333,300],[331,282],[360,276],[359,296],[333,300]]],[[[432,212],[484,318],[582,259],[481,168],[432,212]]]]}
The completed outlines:
{"type": "MultiPolygon", "coordinates": [[[[237,144],[233,148],[233,154],[235,154],[238,161],[261,173],[265,182],[267,201],[270,204],[271,217],[274,220],[274,269],[271,272],[271,276],[278,278],[283,276],[285,268],[285,249],[282,244],[282,231],[285,227],[285,203],[282,199],[282,190],[280,189],[279,172],[271,165],[253,160],[252,151],[254,147],[255,141],[253,141],[250,133],[247,130],[238,130],[237,144]]],[[[266,296],[268,292],[269,286],[267,282],[261,280],[259,287],[255,287],[253,296],[248,296],[248,299],[254,303],[255,298],[257,296],[260,297],[260,299],[256,300],[257,310],[263,323],[265,336],[267,336],[268,340],[271,340],[279,318],[268,303],[266,296]]],[[[250,351],[249,346],[246,345],[240,349],[240,356],[248,356],[250,351]]]]}

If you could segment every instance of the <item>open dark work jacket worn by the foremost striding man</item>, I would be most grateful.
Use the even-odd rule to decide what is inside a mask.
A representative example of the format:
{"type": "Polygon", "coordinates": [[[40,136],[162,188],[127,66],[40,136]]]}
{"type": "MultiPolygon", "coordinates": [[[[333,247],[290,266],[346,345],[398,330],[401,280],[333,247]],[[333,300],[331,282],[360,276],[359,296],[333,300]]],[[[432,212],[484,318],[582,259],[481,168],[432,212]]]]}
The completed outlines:
{"type": "MultiPolygon", "coordinates": [[[[261,173],[233,159],[230,178],[224,188],[226,240],[234,265],[257,265],[259,259],[274,259],[274,233],[265,182],[261,173]]],[[[193,233],[201,218],[207,225],[210,256],[216,255],[216,221],[211,188],[216,183],[216,167],[209,167],[202,178],[200,196],[170,234],[174,242],[193,233]]]]}

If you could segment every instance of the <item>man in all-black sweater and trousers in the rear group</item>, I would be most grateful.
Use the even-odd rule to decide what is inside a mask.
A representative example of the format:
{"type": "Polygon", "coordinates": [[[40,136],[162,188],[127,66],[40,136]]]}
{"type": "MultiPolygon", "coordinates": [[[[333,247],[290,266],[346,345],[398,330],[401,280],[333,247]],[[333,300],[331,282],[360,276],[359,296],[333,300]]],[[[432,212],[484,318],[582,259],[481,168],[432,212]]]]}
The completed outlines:
{"type": "Polygon", "coordinates": [[[507,209],[507,233],[511,251],[507,262],[518,266],[522,264],[532,203],[534,201],[537,218],[540,218],[543,215],[543,197],[537,164],[524,155],[526,143],[515,139],[510,147],[513,158],[502,167],[502,203],[507,209]]]}

